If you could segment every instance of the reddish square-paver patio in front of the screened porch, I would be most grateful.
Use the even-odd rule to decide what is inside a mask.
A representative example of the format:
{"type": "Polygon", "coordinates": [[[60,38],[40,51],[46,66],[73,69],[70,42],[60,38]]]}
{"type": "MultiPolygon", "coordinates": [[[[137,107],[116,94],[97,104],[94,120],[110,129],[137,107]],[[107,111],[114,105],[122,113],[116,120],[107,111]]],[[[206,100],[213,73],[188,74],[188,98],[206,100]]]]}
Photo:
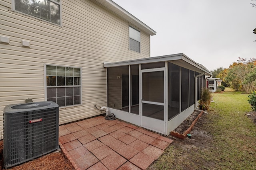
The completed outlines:
{"type": "Polygon", "coordinates": [[[77,170],[146,169],[172,143],[158,133],[104,116],[61,125],[60,146],[77,170]]]}

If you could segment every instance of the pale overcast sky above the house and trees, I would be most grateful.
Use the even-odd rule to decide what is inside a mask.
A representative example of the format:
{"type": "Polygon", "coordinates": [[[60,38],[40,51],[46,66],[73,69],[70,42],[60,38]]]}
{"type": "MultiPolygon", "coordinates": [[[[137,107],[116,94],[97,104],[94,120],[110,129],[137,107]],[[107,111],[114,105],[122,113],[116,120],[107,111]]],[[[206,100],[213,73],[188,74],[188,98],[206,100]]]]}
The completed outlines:
{"type": "Polygon", "coordinates": [[[184,53],[208,70],[256,58],[252,0],[113,0],[148,25],[150,57],[184,53]]]}

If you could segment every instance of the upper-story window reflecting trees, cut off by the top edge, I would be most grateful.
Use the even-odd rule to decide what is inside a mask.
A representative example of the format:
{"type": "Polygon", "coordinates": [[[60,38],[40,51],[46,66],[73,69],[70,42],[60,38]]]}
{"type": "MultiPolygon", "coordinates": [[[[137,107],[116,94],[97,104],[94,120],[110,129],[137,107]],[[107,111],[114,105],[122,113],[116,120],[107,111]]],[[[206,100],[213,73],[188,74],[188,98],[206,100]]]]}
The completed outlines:
{"type": "Polygon", "coordinates": [[[12,0],[12,9],[60,25],[60,0],[12,0]]]}

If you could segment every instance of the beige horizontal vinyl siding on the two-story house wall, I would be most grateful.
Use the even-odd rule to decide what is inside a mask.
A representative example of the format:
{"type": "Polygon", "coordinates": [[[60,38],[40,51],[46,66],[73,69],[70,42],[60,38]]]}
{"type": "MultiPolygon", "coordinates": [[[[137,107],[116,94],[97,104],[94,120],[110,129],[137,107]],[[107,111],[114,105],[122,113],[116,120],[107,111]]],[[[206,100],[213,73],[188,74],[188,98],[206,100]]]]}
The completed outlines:
{"type": "Polygon", "coordinates": [[[12,11],[11,0],[0,1],[0,16],[0,35],[10,37],[0,43],[0,138],[6,105],[45,100],[44,64],[82,68],[82,105],[61,108],[63,124],[106,106],[104,61],[150,57],[150,35],[141,31],[141,53],[130,51],[129,23],[90,0],[62,0],[62,27],[12,11]]]}

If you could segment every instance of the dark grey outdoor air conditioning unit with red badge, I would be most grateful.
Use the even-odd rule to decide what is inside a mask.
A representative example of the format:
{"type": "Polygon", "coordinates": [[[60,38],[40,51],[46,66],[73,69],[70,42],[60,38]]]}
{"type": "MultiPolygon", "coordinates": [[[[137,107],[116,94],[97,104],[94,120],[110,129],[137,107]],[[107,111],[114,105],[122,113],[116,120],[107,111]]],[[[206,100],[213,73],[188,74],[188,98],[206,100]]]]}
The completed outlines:
{"type": "Polygon", "coordinates": [[[4,107],[4,167],[58,149],[59,106],[51,101],[4,107]]]}

